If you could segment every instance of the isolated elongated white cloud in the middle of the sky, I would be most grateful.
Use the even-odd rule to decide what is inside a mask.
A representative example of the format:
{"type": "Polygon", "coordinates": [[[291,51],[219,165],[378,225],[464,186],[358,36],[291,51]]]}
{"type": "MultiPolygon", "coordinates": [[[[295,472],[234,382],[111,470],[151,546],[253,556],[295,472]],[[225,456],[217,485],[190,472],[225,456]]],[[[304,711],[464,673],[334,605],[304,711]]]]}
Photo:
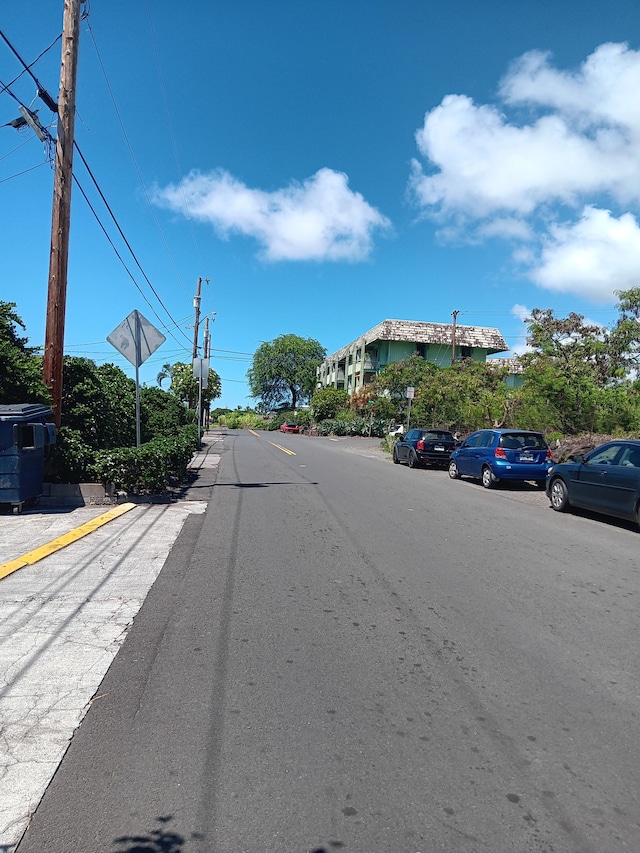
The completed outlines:
{"type": "Polygon", "coordinates": [[[373,233],[391,223],[342,172],[320,169],[303,183],[273,192],[252,189],[224,170],[191,172],[179,185],[157,189],[157,204],[203,222],[219,236],[244,234],[262,245],[270,261],[360,261],[373,233]]]}

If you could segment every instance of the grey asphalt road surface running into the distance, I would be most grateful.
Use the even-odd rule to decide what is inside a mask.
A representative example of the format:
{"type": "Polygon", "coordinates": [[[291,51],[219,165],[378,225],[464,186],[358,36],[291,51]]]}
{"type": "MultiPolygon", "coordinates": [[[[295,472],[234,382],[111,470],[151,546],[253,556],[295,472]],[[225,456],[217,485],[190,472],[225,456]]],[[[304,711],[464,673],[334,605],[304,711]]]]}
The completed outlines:
{"type": "Polygon", "coordinates": [[[640,533],[349,447],[227,436],[19,853],[640,850],[640,533]]]}

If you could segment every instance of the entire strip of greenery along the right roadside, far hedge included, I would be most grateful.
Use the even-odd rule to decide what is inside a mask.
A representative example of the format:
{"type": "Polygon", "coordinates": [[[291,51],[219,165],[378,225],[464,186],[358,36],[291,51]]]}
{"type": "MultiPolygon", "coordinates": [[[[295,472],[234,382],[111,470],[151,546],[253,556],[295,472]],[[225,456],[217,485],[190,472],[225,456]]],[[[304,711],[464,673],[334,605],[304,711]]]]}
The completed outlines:
{"type": "MultiPolygon", "coordinates": [[[[314,391],[313,381],[301,381],[295,397],[287,396],[286,383],[275,396],[261,396],[256,385],[257,412],[269,415],[253,427],[278,429],[284,420],[296,420],[302,432],[317,435],[378,436],[389,451],[395,440],[388,436],[389,428],[395,424],[442,427],[460,436],[482,427],[514,427],[545,433],[559,457],[575,446],[594,446],[603,436],[637,436],[640,288],[617,296],[618,317],[609,327],[576,313],[556,317],[549,309],[534,309],[527,321],[518,387],[510,387],[507,368],[491,360],[464,359],[438,367],[416,354],[389,365],[351,396],[335,388],[314,391]],[[408,387],[414,388],[410,413],[408,387]],[[300,401],[308,402],[309,409],[296,409],[300,401]]],[[[277,375],[275,349],[267,345],[272,375],[277,375]]],[[[316,353],[313,371],[306,365],[307,379],[323,357],[323,351],[316,353]]],[[[233,423],[224,417],[222,422],[233,423]]]]}

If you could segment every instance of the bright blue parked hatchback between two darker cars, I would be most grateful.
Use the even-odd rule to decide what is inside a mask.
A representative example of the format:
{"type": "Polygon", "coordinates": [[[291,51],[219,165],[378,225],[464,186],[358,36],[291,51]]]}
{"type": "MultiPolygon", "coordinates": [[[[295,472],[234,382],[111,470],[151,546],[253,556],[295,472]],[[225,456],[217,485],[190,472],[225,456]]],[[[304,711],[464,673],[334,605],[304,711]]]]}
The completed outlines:
{"type": "Polygon", "coordinates": [[[550,465],[551,451],[541,432],[481,429],[451,454],[449,476],[475,477],[485,489],[500,480],[533,480],[543,489],[550,465]]]}

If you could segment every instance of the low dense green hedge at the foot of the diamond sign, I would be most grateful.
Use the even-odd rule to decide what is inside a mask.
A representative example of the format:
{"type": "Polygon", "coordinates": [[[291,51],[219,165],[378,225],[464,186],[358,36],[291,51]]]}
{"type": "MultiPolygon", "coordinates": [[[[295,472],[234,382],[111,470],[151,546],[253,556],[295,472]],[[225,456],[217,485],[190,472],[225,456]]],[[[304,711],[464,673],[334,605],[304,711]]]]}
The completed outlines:
{"type": "Polygon", "coordinates": [[[129,494],[159,494],[171,481],[184,479],[197,445],[198,428],[188,424],[140,447],[99,450],[90,466],[92,479],[129,494]]]}

